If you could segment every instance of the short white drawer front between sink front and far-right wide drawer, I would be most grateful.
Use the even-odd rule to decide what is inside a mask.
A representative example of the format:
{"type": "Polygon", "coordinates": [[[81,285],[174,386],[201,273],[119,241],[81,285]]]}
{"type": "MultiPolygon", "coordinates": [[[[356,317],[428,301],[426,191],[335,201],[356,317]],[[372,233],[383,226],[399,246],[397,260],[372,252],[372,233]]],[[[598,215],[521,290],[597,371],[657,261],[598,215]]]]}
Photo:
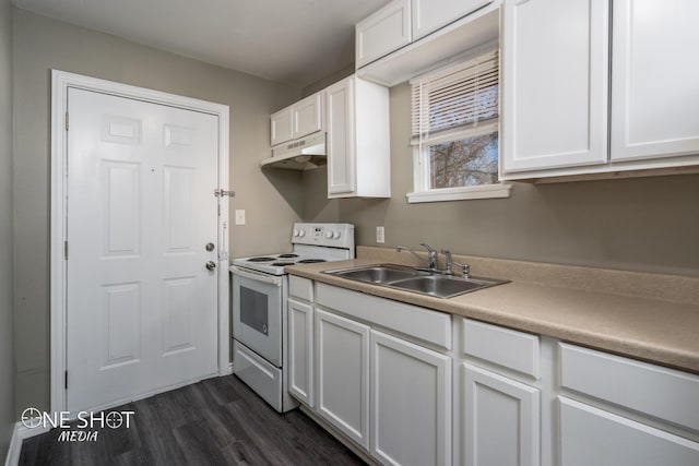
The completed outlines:
{"type": "Polygon", "coordinates": [[[463,353],[540,377],[536,335],[463,319],[463,353]]]}

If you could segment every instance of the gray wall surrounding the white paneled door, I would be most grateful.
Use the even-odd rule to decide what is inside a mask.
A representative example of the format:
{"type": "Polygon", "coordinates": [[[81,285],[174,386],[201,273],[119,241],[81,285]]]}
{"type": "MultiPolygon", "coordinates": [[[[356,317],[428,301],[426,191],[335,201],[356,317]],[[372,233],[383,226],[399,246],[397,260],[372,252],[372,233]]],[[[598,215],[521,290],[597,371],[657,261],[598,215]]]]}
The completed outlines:
{"type": "Polygon", "coordinates": [[[230,207],[247,210],[247,225],[232,228],[233,255],[289,248],[289,227],[300,219],[303,199],[297,189],[300,174],[263,174],[259,168],[259,160],[269,155],[269,115],[296,100],[300,89],[17,9],[14,57],[15,405],[20,411],[25,406],[49,408],[50,69],[230,106],[230,187],[237,192],[230,207]]]}

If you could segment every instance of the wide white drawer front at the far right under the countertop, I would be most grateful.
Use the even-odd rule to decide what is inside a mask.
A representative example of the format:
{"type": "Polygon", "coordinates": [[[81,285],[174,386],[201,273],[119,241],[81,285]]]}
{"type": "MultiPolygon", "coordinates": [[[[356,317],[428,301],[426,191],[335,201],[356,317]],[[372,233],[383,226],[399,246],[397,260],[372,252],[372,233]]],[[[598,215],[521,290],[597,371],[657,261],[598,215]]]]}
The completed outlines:
{"type": "Polygon", "coordinates": [[[699,377],[565,343],[560,384],[699,431],[699,377]]]}

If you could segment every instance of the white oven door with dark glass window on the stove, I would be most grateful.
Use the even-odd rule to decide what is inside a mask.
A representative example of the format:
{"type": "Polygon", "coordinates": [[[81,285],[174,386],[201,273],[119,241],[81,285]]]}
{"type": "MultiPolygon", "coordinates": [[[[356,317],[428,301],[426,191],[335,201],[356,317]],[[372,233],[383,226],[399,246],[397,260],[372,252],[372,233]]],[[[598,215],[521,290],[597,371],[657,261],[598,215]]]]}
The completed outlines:
{"type": "Polygon", "coordinates": [[[282,367],[282,312],[286,276],[236,266],[233,273],[233,337],[282,367]]]}

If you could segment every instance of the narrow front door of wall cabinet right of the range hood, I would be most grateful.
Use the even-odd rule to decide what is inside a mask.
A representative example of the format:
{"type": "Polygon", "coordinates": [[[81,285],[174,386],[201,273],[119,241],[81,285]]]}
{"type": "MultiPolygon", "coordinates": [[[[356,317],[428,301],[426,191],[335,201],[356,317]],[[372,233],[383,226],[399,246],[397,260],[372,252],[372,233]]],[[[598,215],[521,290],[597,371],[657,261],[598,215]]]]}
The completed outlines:
{"type": "Polygon", "coordinates": [[[328,100],[328,196],[352,194],[355,180],[354,77],[325,89],[328,100]]]}

